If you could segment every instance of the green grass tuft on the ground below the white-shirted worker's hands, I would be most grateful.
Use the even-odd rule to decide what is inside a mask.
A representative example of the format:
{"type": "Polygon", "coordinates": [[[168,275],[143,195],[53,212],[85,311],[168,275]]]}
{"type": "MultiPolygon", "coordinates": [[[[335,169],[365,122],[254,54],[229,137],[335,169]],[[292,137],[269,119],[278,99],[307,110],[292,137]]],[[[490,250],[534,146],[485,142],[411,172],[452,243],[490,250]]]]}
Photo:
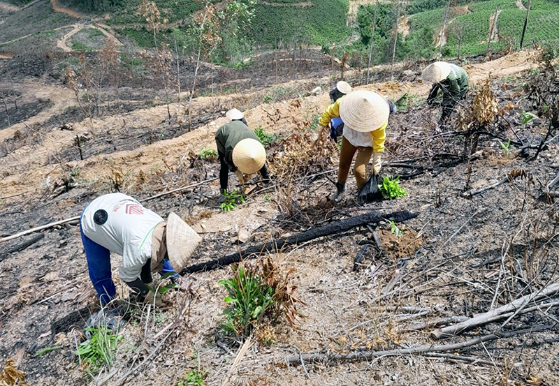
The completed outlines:
{"type": "Polygon", "coordinates": [[[79,344],[76,355],[94,369],[103,365],[112,366],[117,353],[117,343],[122,340],[122,335],[112,334],[110,329],[104,326],[88,327],[86,330],[92,332],[92,337],[79,344]]]}

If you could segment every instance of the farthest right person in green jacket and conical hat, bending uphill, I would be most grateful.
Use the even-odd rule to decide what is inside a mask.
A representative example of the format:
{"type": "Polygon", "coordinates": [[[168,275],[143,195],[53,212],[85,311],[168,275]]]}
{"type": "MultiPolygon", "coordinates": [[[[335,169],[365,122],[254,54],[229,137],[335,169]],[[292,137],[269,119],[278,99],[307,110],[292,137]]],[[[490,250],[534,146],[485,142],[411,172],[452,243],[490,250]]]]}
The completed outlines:
{"type": "Polygon", "coordinates": [[[456,66],[456,64],[447,63],[446,61],[435,61],[435,63],[430,64],[423,70],[421,77],[426,82],[433,83],[427,98],[428,105],[433,105],[439,89],[442,91],[440,123],[444,124],[450,114],[452,114],[456,103],[463,99],[467,93],[468,86],[470,86],[467,73],[463,68],[456,66]]]}

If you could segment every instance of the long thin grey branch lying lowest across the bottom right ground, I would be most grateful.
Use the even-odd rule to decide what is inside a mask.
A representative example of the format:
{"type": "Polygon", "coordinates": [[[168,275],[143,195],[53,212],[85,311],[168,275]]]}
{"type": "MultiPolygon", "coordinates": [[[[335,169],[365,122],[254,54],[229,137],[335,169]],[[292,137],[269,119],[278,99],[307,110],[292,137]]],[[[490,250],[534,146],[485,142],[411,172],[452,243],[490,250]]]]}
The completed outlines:
{"type": "Polygon", "coordinates": [[[471,339],[470,341],[464,341],[460,343],[451,343],[444,345],[432,345],[427,344],[423,346],[417,346],[412,348],[397,348],[395,350],[382,350],[382,351],[356,351],[349,352],[348,354],[333,354],[328,352],[322,352],[317,354],[304,354],[304,355],[291,355],[286,357],[286,362],[288,364],[298,364],[301,361],[305,362],[324,362],[327,360],[331,361],[351,361],[351,360],[368,360],[378,357],[393,357],[401,355],[424,355],[428,352],[445,352],[445,351],[455,351],[461,350],[463,348],[475,346],[479,343],[484,343],[487,341],[494,341],[500,338],[509,338],[515,335],[528,334],[533,332],[546,331],[548,329],[553,329],[557,324],[553,325],[543,325],[536,326],[527,329],[518,329],[510,332],[502,332],[500,334],[488,334],[484,336],[479,336],[476,339],[471,339]]]}

